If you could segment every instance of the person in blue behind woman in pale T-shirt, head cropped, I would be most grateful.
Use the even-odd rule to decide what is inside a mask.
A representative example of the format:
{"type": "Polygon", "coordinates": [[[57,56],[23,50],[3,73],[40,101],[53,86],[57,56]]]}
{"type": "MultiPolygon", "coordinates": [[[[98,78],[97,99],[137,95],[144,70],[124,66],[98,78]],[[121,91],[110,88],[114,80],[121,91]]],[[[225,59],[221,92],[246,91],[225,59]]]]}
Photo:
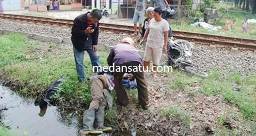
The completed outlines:
{"type": "MultiPolygon", "coordinates": [[[[167,2],[167,0],[151,0],[150,1],[150,6],[154,7],[154,5],[156,5],[155,7],[160,7],[160,9],[162,10],[162,18],[164,18],[166,21],[167,20],[167,17],[166,17],[166,14],[167,14],[167,8],[170,9],[170,6],[167,2]],[[166,8],[167,6],[167,8],[166,8]]],[[[170,30],[168,32],[168,36],[169,37],[172,37],[172,30],[171,30],[171,27],[170,27],[170,30]]]]}

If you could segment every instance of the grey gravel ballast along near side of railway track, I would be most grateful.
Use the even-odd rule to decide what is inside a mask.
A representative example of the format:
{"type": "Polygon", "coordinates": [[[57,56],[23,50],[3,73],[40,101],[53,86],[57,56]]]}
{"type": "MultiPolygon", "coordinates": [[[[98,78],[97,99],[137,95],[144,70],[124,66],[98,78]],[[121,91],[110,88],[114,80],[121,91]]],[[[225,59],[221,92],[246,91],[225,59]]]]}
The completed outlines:
{"type": "MultiPolygon", "coordinates": [[[[26,32],[30,34],[39,34],[51,37],[70,37],[70,29],[58,29],[50,26],[38,26],[35,24],[21,24],[0,20],[0,29],[12,30],[17,32],[26,32]]],[[[115,45],[128,34],[115,34],[113,32],[100,32],[99,42],[105,45],[115,45]]],[[[138,37],[137,37],[138,38],[138,37]]],[[[231,53],[229,48],[217,48],[215,51],[205,45],[195,45],[193,49],[193,63],[207,70],[218,69],[221,71],[239,71],[240,73],[256,72],[256,54],[249,50],[239,50],[231,53]]],[[[143,45],[136,46],[140,50],[144,50],[143,45]]]]}

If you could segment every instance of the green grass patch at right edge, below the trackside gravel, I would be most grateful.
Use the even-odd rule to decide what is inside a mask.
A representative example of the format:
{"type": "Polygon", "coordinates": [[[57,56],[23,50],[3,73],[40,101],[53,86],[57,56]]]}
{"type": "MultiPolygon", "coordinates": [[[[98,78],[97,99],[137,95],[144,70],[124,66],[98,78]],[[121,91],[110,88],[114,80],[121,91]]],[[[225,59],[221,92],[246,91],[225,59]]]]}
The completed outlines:
{"type": "Polygon", "coordinates": [[[235,72],[223,74],[215,71],[202,81],[200,90],[206,95],[222,95],[226,101],[239,107],[245,119],[254,120],[256,117],[255,77],[255,73],[242,77],[235,72]]]}

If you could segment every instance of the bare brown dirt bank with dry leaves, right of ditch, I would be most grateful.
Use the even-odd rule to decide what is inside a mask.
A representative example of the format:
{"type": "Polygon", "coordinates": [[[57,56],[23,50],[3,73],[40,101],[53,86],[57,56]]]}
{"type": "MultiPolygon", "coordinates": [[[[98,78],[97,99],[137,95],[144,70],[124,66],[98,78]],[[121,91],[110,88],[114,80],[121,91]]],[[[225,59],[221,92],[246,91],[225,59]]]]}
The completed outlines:
{"type": "MultiPolygon", "coordinates": [[[[209,135],[220,133],[218,117],[228,116],[228,110],[233,109],[236,120],[227,120],[222,124],[227,131],[236,128],[243,130],[240,134],[248,134],[250,128],[242,124],[239,109],[232,104],[223,102],[221,96],[207,97],[198,91],[195,85],[188,91],[196,91],[190,95],[188,91],[174,91],[166,93],[167,82],[172,81],[172,75],[161,74],[161,77],[152,80],[152,75],[146,74],[150,98],[150,109],[147,111],[136,108],[136,100],[130,101],[128,107],[118,107],[116,121],[122,130],[130,130],[136,127],[139,132],[152,132],[164,136],[209,135]],[[184,107],[184,114],[190,114],[190,125],[186,126],[177,118],[166,118],[161,110],[179,103],[184,107]]],[[[130,96],[131,97],[131,96],[130,96]]],[[[131,100],[131,98],[130,98],[131,100]]],[[[232,116],[230,116],[232,118],[232,116]]]]}

